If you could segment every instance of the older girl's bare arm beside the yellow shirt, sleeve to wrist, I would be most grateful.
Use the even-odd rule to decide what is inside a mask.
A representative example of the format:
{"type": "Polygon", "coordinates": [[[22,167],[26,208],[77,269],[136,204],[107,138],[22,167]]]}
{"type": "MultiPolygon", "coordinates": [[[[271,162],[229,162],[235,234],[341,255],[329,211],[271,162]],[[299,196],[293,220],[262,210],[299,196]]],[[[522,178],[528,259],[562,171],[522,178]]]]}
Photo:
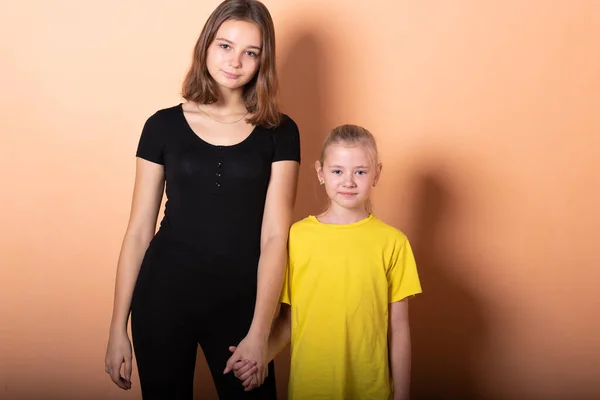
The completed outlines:
{"type": "Polygon", "coordinates": [[[258,263],[258,287],[249,335],[268,340],[285,274],[287,240],[296,199],[298,163],[273,163],[267,190],[258,263]]]}

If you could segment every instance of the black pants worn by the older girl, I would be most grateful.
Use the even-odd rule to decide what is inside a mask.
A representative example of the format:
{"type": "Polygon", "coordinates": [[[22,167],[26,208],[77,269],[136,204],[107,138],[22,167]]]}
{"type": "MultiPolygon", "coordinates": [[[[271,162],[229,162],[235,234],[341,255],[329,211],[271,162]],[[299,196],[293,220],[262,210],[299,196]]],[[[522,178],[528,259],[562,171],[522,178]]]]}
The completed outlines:
{"type": "Polygon", "coordinates": [[[192,400],[198,344],[219,399],[276,399],[275,371],[244,392],[230,372],[229,346],[246,336],[254,313],[256,278],[225,278],[149,249],[134,291],[131,327],[144,400],[192,400]],[[204,272],[201,272],[204,271],[204,272]]]}

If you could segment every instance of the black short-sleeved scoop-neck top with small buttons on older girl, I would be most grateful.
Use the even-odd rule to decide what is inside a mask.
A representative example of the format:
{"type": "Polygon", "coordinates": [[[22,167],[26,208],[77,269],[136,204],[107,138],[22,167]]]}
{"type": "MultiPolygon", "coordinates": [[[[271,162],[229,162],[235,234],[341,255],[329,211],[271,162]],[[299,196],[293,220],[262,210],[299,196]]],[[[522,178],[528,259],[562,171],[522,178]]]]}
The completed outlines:
{"type": "Polygon", "coordinates": [[[256,274],[271,164],[300,161],[290,117],[277,128],[256,126],[238,144],[216,146],[194,133],[179,104],[146,121],[136,155],[165,169],[165,215],[151,247],[207,272],[256,274]]]}

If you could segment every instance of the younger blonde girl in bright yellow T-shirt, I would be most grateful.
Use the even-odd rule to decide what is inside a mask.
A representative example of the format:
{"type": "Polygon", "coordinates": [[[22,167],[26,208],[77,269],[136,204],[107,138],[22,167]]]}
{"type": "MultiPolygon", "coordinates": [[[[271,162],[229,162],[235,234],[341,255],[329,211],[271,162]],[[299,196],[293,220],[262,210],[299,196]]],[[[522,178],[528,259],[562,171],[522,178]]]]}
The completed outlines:
{"type": "MultiPolygon", "coordinates": [[[[331,202],[290,230],[269,359],[291,336],[290,399],[407,399],[407,299],[421,286],[406,236],[369,212],[381,173],[375,139],[340,126],[315,166],[331,202]]],[[[233,369],[247,390],[255,387],[253,363],[233,369]]]]}

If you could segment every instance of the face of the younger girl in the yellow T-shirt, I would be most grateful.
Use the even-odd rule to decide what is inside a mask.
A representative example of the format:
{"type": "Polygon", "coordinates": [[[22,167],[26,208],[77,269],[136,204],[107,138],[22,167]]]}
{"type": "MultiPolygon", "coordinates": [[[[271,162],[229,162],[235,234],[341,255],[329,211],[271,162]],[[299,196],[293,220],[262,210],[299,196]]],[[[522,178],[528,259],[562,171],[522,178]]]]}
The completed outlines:
{"type": "Polygon", "coordinates": [[[315,167],[332,205],[346,209],[365,206],[381,172],[367,148],[344,143],[330,145],[323,165],[317,161],[315,167]]]}

